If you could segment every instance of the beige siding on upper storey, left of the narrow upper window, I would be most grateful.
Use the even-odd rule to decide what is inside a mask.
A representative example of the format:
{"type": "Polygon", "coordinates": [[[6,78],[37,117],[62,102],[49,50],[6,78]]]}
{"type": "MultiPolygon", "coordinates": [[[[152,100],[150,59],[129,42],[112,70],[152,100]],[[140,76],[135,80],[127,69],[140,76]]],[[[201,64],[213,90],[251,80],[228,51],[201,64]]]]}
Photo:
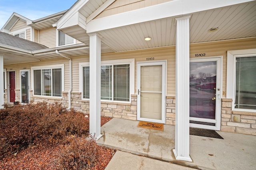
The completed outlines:
{"type": "Polygon", "coordinates": [[[56,28],[46,28],[39,30],[39,43],[49,48],[56,47],[56,28]]]}

